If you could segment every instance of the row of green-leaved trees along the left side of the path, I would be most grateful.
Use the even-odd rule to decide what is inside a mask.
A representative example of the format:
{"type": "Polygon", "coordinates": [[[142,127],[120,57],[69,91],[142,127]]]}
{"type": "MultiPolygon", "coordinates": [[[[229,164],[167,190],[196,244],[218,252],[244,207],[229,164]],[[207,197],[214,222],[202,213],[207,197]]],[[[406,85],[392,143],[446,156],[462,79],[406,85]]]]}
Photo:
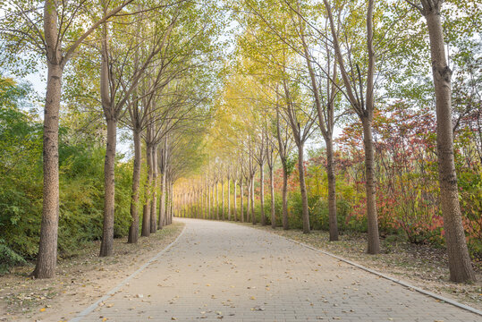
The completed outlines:
{"type": "MultiPolygon", "coordinates": [[[[4,67],[47,67],[43,198],[37,266],[53,277],[57,258],[59,119],[67,103],[106,144],[100,256],[113,254],[117,129],[133,137],[129,242],[171,222],[173,182],[187,171],[216,86],[216,7],[189,1],[13,1],[0,21],[4,67]],[[104,129],[98,116],[105,119],[104,129]],[[89,123],[89,121],[92,121],[89,123]],[[95,125],[93,125],[95,124],[95,125]],[[145,157],[142,157],[142,150],[145,157]],[[141,183],[143,166],[147,177],[141,183]],[[144,186],[141,187],[141,184],[144,186]],[[143,195],[141,195],[143,193],[143,195]],[[142,208],[140,224],[139,210],[142,208]]],[[[20,68],[19,68],[20,67],[20,68]]],[[[7,241],[8,242],[8,241],[7,241]]]]}

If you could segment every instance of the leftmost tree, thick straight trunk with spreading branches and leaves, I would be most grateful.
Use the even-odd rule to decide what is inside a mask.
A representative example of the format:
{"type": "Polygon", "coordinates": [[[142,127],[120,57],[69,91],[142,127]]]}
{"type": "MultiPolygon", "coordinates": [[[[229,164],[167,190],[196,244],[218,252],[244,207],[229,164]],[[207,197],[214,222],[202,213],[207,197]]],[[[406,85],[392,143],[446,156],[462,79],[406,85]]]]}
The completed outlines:
{"type": "Polygon", "coordinates": [[[30,53],[43,55],[47,61],[43,138],[44,196],[37,265],[32,273],[37,278],[51,278],[55,275],[59,216],[58,122],[63,71],[83,41],[110,18],[121,13],[132,1],[123,0],[114,9],[103,11],[101,17],[94,16],[95,20],[88,29],[85,29],[81,16],[83,12],[89,12],[84,2],[72,4],[46,0],[43,8],[38,5],[38,1],[12,1],[6,4],[14,8],[14,12],[2,21],[2,37],[6,40],[7,47],[13,50],[12,54],[16,55],[21,52],[20,48],[24,48],[30,53]],[[42,9],[43,16],[39,12],[42,9]]]}

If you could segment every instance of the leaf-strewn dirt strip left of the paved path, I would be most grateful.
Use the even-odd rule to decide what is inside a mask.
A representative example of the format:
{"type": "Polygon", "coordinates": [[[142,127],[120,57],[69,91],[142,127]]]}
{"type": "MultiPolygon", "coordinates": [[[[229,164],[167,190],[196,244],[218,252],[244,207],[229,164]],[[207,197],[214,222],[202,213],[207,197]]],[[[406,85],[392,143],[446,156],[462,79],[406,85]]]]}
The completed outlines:
{"type": "Polygon", "coordinates": [[[99,258],[100,242],[59,260],[53,279],[29,277],[33,265],[0,276],[0,321],[65,321],[97,301],[143,263],[173,242],[183,224],[174,223],[138,244],[114,241],[114,256],[99,258]]]}

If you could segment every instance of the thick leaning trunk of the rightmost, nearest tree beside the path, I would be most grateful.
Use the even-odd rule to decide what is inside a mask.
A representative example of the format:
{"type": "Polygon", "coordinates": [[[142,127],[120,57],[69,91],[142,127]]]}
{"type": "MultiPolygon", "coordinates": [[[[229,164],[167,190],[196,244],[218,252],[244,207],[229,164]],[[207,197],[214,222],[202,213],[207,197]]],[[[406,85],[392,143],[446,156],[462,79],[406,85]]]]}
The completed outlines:
{"type": "Polygon", "coordinates": [[[465,232],[461,221],[459,203],[459,188],[455,162],[453,159],[452,133],[452,71],[447,65],[444,49],[444,32],[440,19],[440,6],[428,10],[428,4],[423,1],[425,18],[427,19],[430,38],[430,54],[432,57],[432,72],[435,85],[436,105],[436,143],[438,160],[438,180],[440,200],[444,215],[445,243],[449,259],[450,280],[452,282],[476,281],[472,268],[469,250],[465,241],[465,232]]]}

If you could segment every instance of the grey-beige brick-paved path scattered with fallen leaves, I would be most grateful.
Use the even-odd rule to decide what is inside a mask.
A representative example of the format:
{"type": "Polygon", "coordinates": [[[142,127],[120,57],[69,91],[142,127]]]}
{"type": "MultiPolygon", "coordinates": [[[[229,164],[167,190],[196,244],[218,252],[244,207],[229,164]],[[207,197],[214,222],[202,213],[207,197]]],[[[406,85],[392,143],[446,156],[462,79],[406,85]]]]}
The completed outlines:
{"type": "Polygon", "coordinates": [[[482,320],[274,234],[178,220],[178,242],[82,321],[482,320]]]}

